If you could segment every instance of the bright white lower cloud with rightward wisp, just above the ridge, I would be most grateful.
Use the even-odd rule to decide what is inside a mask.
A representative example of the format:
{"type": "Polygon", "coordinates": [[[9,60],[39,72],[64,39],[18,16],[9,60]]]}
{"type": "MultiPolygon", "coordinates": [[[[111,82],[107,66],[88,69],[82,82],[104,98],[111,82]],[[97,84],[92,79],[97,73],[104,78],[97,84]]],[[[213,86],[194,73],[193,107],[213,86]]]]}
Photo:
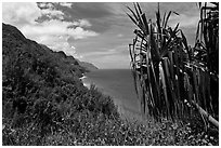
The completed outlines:
{"type": "Polygon", "coordinates": [[[77,40],[98,36],[98,33],[84,30],[81,27],[69,29],[67,28],[69,25],[72,25],[72,23],[52,19],[39,25],[24,26],[22,32],[24,32],[26,37],[46,44],[54,51],[64,51],[67,55],[82,58],[81,55],[76,52],[76,48],[68,43],[68,38],[72,37],[77,40]]]}

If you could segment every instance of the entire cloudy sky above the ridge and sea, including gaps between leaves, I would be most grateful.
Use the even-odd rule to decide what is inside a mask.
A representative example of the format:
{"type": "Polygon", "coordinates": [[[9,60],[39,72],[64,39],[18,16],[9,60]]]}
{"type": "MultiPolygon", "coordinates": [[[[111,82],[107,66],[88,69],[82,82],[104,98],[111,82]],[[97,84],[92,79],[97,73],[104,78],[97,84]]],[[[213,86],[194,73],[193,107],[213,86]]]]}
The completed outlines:
{"type": "MultiPolygon", "coordinates": [[[[94,64],[101,69],[130,68],[128,44],[135,25],[126,15],[131,2],[3,2],[2,22],[17,27],[26,38],[53,51],[94,64]]],[[[195,41],[199,19],[197,3],[159,3],[161,14],[174,11],[169,25],[180,28],[188,44],[195,41]]],[[[155,21],[157,3],[142,2],[147,18],[155,21]]]]}

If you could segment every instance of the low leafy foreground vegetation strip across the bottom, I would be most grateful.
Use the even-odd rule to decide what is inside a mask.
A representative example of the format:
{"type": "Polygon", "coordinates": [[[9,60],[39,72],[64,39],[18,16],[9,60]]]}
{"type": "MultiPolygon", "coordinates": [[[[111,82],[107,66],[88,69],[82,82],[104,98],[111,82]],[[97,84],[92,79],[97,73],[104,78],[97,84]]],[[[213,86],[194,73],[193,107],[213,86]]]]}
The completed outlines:
{"type": "Polygon", "coordinates": [[[77,112],[73,117],[66,117],[63,122],[57,123],[56,130],[54,129],[44,135],[41,134],[41,131],[42,129],[37,123],[13,129],[6,125],[3,129],[3,145],[219,145],[216,137],[218,135],[212,131],[206,133],[196,126],[193,127],[192,124],[174,124],[167,120],[161,123],[153,121],[145,124],[131,123],[88,110],[77,112]]]}

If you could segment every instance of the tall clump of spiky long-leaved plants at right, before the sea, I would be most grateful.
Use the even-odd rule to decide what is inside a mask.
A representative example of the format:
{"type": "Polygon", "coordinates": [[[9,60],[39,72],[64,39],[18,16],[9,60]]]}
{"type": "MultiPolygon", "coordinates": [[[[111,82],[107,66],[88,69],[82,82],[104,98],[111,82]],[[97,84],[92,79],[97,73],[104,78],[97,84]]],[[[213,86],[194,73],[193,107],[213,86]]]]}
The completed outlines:
{"type": "Polygon", "coordinates": [[[158,5],[156,22],[153,22],[146,18],[139,3],[134,3],[134,10],[128,6],[130,14],[127,15],[138,27],[134,30],[135,38],[129,44],[131,68],[145,116],[156,120],[162,117],[181,119],[190,112],[187,106],[212,115],[219,113],[218,92],[212,91],[212,86],[218,89],[218,85],[211,83],[211,79],[219,79],[219,60],[218,57],[210,59],[218,53],[219,36],[216,33],[217,27],[212,30],[214,35],[210,35],[212,25],[208,27],[212,21],[218,23],[218,3],[213,4],[216,6],[209,8],[209,13],[199,4],[203,14],[197,38],[204,36],[204,41],[199,40],[200,44],[195,48],[187,44],[179,23],[174,28],[168,26],[170,16],[179,15],[177,12],[170,11],[161,17],[158,5]],[[206,59],[200,58],[198,51],[205,51],[206,59]]]}

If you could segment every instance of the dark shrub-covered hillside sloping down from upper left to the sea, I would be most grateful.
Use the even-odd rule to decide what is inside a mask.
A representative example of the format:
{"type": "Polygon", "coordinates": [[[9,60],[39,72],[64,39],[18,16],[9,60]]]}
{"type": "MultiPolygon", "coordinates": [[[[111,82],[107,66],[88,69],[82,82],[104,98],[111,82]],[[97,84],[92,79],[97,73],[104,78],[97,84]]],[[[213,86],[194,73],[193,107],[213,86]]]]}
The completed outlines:
{"type": "Polygon", "coordinates": [[[2,24],[3,145],[47,145],[47,138],[64,136],[57,132],[66,129],[81,140],[81,131],[90,132],[81,123],[95,125],[100,115],[119,118],[110,97],[83,86],[79,77],[86,71],[75,57],[2,24]]]}

